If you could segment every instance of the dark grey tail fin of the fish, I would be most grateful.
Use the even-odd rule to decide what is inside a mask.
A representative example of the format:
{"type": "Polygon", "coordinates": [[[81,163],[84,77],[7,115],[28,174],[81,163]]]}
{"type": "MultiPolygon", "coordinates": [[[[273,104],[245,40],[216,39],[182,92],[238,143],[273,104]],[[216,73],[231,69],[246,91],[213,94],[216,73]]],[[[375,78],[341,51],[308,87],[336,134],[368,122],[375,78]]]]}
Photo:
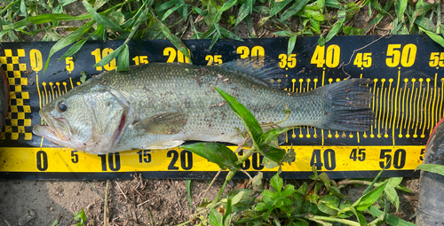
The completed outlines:
{"type": "Polygon", "coordinates": [[[373,97],[369,92],[370,83],[370,79],[349,79],[326,86],[324,91],[330,107],[321,128],[351,132],[369,130],[374,124],[373,111],[369,107],[373,97]]]}

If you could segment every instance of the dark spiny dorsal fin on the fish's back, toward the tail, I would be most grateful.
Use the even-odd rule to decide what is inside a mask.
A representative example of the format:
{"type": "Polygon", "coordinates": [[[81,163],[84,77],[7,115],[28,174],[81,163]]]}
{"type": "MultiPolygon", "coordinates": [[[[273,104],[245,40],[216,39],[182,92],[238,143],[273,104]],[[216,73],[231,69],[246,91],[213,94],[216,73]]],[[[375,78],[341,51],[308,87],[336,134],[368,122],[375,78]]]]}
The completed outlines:
{"type": "Polygon", "coordinates": [[[289,82],[285,72],[279,67],[279,62],[274,59],[242,58],[219,65],[226,71],[241,74],[258,84],[268,87],[283,89],[289,82]]]}

